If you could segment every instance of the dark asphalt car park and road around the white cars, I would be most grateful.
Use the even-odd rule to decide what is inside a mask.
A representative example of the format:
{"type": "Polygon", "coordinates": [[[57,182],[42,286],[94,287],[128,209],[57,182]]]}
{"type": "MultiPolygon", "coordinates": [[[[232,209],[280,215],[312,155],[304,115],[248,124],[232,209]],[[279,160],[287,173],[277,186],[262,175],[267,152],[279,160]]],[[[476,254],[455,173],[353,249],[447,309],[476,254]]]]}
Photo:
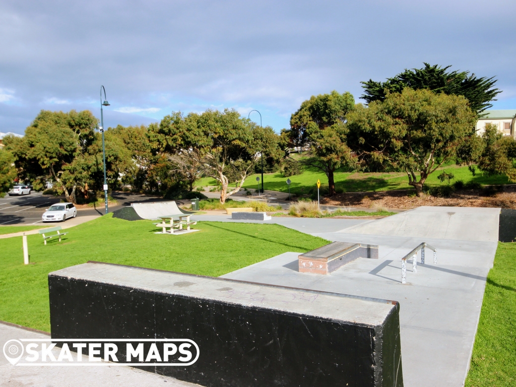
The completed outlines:
{"type": "MultiPolygon", "coordinates": [[[[116,211],[122,206],[131,203],[158,202],[164,199],[148,196],[134,195],[127,192],[113,192],[112,197],[117,199],[115,206],[109,207],[109,212],[116,211]]],[[[61,198],[42,195],[40,192],[32,192],[25,196],[8,196],[0,198],[0,226],[15,224],[41,224],[41,216],[54,203],[59,203],[61,198]]],[[[77,217],[90,215],[103,215],[104,206],[96,208],[77,208],[77,217]]]]}

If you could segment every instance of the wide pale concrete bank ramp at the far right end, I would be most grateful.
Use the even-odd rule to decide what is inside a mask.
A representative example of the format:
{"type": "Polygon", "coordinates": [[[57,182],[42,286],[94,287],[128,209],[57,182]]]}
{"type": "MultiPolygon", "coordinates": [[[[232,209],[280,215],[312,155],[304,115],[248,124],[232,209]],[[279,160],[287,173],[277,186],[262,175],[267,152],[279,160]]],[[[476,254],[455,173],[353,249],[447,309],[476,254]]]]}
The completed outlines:
{"type": "Polygon", "coordinates": [[[341,230],[347,234],[498,241],[500,208],[418,207],[341,230]]]}

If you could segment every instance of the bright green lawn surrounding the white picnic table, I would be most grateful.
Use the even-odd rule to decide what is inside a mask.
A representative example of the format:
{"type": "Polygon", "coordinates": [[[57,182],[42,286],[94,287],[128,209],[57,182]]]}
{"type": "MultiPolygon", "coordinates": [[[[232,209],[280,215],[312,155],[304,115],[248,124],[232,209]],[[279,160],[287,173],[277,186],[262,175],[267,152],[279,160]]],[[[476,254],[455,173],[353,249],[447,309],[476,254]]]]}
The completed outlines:
{"type": "Polygon", "coordinates": [[[23,264],[22,237],[0,239],[0,320],[50,331],[47,275],[102,261],[217,277],[286,251],[306,252],[329,241],[276,224],[199,222],[201,231],[154,234],[150,220],[111,214],[68,229],[62,242],[43,245],[28,235],[31,265],[23,264]]]}

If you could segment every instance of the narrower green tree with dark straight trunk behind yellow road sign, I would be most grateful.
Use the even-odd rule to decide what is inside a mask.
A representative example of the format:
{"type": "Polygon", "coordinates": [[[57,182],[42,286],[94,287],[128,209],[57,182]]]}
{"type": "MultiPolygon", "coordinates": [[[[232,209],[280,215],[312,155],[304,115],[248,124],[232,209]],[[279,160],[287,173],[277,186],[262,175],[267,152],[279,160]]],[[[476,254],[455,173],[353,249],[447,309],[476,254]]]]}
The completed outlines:
{"type": "Polygon", "coordinates": [[[351,93],[332,91],[313,95],[291,117],[290,139],[295,146],[310,147],[305,163],[326,174],[330,196],[335,193],[335,171],[353,164],[354,157],[346,144],[345,125],[346,115],[353,108],[351,93]]]}

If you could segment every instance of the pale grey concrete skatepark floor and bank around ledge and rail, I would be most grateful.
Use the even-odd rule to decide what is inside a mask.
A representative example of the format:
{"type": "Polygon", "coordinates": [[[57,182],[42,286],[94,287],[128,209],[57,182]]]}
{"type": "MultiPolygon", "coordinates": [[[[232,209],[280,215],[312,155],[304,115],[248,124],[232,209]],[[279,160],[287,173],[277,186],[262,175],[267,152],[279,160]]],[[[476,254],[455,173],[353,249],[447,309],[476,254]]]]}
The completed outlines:
{"type": "MultiPolygon", "coordinates": [[[[498,214],[498,208],[420,207],[374,221],[273,218],[265,223],[282,224],[331,241],[379,245],[379,260],[358,259],[331,275],[321,276],[299,273],[299,252],[293,249],[291,253],[272,257],[223,277],[397,300],[400,302],[405,385],[460,386],[467,374],[485,280],[497,247],[498,214]],[[434,265],[432,260],[427,260],[427,264],[418,266],[417,273],[411,272],[409,264],[407,284],[401,285],[401,257],[422,242],[438,249],[438,263],[434,265]]],[[[229,216],[200,215],[192,219],[231,221],[229,216]]],[[[7,337],[5,329],[2,327],[2,336],[7,337]]],[[[8,371],[6,366],[1,366],[4,368],[2,373],[8,371]]],[[[119,368],[124,368],[123,373],[141,374],[132,368],[119,368]]],[[[59,373],[59,379],[63,381],[68,374],[71,385],[75,372],[66,369],[59,373]]],[[[80,372],[88,378],[88,370],[80,372]]],[[[121,372],[118,369],[117,375],[121,372]]],[[[20,374],[21,370],[17,369],[17,373],[20,374]]],[[[47,369],[45,373],[53,379],[51,370],[47,369]]],[[[39,379],[36,375],[32,378],[37,379],[31,379],[26,372],[15,376],[14,368],[9,370],[9,374],[18,380],[39,379]]],[[[96,378],[90,377],[92,380],[96,378]]],[[[142,377],[146,378],[145,374],[142,377]]],[[[148,378],[155,377],[148,375],[148,378]]],[[[170,378],[158,378],[178,383],[175,385],[188,385],[170,378]]],[[[119,385],[117,378],[112,382],[119,385]]]]}

